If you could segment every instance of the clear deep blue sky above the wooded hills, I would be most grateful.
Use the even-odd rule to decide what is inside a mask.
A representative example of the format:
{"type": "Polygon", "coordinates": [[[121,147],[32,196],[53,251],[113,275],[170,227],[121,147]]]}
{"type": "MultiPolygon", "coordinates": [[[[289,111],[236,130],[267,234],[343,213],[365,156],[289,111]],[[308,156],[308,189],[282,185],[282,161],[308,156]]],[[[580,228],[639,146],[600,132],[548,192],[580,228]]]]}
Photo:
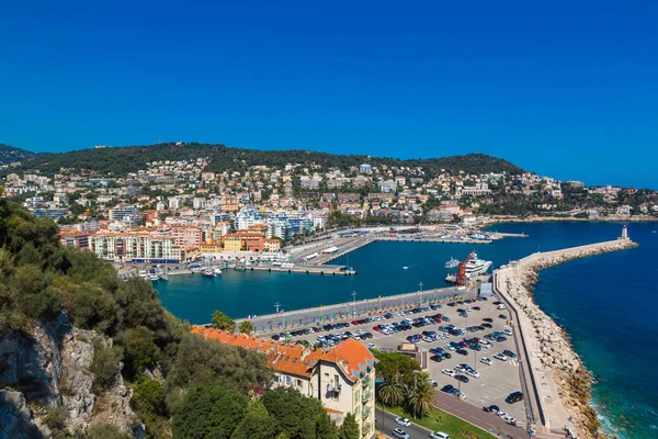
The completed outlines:
{"type": "Polygon", "coordinates": [[[656,23],[656,1],[7,1],[0,143],[473,151],[658,188],[656,23]]]}

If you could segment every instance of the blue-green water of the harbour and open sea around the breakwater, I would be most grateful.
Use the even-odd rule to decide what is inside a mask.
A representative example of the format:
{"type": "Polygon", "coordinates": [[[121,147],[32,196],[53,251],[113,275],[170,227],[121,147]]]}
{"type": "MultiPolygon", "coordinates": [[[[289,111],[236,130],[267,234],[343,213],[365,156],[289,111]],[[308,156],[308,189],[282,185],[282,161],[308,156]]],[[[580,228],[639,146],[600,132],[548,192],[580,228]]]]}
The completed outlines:
{"type": "MultiPolygon", "coordinates": [[[[269,314],[279,303],[295,309],[356,299],[445,286],[443,264],[475,249],[495,267],[534,251],[614,239],[617,223],[499,224],[524,232],[491,245],[374,243],[336,261],[359,274],[333,277],[227,270],[222,278],[171,277],[156,284],[163,305],[180,318],[206,323],[215,309],[234,317],[269,314]],[[408,267],[408,269],[402,269],[408,267]]],[[[640,246],[543,270],[535,300],[572,337],[576,351],[598,379],[593,402],[609,432],[658,438],[658,224],[633,223],[640,246]],[[654,233],[656,230],[656,233],[654,233]]]]}

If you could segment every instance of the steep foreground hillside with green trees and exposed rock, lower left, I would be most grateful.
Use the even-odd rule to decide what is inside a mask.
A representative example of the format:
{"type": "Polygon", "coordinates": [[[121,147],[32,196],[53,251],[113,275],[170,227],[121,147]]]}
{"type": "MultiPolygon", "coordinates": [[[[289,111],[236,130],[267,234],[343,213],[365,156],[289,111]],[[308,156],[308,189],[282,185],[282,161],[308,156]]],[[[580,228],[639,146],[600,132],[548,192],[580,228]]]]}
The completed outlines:
{"type": "Polygon", "coordinates": [[[266,390],[262,354],[191,334],[57,232],[0,199],[0,437],[338,439],[318,401],[266,390]]]}

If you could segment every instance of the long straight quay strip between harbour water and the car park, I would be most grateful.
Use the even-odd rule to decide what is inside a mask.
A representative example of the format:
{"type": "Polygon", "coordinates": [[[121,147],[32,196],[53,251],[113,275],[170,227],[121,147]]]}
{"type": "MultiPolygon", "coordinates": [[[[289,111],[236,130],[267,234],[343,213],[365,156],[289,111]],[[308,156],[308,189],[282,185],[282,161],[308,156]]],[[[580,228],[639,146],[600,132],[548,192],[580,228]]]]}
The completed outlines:
{"type": "Polygon", "coordinates": [[[474,299],[477,295],[477,283],[470,288],[444,288],[417,291],[397,295],[358,301],[352,293],[352,301],[332,305],[320,305],[311,308],[283,311],[276,304],[276,313],[236,319],[236,327],[245,320],[251,322],[257,336],[293,330],[328,323],[351,322],[364,316],[374,316],[395,311],[409,309],[416,306],[446,303],[454,300],[474,299]]]}

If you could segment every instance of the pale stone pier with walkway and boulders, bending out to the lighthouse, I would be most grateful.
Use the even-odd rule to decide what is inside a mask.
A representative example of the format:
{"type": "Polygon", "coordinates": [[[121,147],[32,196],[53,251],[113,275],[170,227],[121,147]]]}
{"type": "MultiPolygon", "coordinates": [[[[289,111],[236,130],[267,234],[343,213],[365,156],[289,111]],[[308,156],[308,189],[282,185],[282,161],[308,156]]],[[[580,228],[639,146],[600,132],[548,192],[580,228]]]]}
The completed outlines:
{"type": "Polygon", "coordinates": [[[580,399],[589,406],[589,402],[581,401],[581,396],[574,394],[568,384],[578,371],[582,371],[580,358],[564,330],[534,303],[527,285],[536,282],[541,269],[635,246],[624,233],[616,240],[535,252],[494,271],[494,291],[510,308],[515,320],[513,337],[529,421],[541,423],[543,434],[551,434],[564,425],[585,430],[588,414],[561,403],[580,399]],[[570,416],[574,416],[572,423],[569,421],[570,416]]]}

